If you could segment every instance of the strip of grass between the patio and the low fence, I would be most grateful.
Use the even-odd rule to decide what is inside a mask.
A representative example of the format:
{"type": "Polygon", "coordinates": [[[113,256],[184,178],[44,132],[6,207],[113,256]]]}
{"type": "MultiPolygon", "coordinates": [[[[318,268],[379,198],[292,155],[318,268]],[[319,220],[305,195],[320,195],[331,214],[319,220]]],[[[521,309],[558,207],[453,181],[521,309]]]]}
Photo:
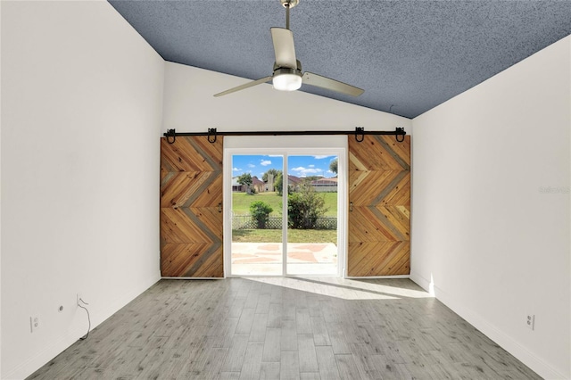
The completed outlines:
{"type": "MultiPolygon", "coordinates": [[[[288,229],[289,243],[333,243],[337,244],[335,229],[288,229]]],[[[282,241],[281,229],[234,229],[233,242],[279,243],[282,241]]]]}

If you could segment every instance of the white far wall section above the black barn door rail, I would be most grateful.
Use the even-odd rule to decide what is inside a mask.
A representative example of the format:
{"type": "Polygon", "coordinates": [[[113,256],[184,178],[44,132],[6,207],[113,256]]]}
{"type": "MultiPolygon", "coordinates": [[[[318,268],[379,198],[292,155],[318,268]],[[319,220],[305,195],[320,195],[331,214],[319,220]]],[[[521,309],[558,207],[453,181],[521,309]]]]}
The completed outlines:
{"type": "MultiPolygon", "coordinates": [[[[167,62],[163,132],[244,130],[394,130],[411,134],[411,120],[350,103],[295,91],[286,93],[262,84],[244,91],[212,95],[249,81],[210,70],[167,62]]],[[[302,137],[304,138],[304,137],[302,137]]]]}

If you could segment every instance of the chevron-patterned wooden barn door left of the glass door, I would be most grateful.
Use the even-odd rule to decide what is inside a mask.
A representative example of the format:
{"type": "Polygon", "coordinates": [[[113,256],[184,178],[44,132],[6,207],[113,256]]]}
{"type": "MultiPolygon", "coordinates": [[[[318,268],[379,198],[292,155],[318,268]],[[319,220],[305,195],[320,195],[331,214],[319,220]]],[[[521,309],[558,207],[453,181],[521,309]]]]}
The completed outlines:
{"type": "Polygon", "coordinates": [[[161,138],[161,276],[224,277],[222,136],[161,138]]]}

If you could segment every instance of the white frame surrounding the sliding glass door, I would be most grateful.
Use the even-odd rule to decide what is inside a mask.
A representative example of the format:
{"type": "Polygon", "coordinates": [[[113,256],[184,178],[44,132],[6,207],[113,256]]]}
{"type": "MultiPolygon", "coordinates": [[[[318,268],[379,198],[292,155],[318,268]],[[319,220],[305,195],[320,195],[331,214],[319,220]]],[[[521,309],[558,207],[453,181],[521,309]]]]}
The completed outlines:
{"type": "MultiPolygon", "coordinates": [[[[238,277],[231,273],[232,254],[232,156],[234,154],[278,154],[284,155],[284,169],[287,170],[287,156],[327,154],[338,157],[337,169],[337,274],[346,276],[347,262],[347,137],[346,136],[228,136],[224,140],[223,158],[223,244],[224,244],[224,277],[238,277]],[[263,146],[263,147],[261,147],[263,146]]],[[[284,181],[284,187],[287,181],[284,181]]],[[[286,188],[286,187],[285,187],[286,188]]],[[[284,208],[286,204],[284,205],[284,208]]],[[[285,215],[285,213],[284,213],[285,215]]],[[[285,216],[284,216],[285,218],[285,216]]],[[[284,232],[285,235],[285,232],[284,232]]],[[[285,243],[285,250],[286,244],[285,243]]],[[[284,268],[286,262],[284,261],[284,268]]],[[[305,275],[288,275],[283,271],[279,277],[306,277],[305,275]]],[[[319,275],[316,275],[316,277],[319,275]]],[[[325,275],[321,275],[324,277],[325,275]]],[[[331,275],[327,275],[331,276],[331,275]]],[[[248,276],[268,277],[268,276],[248,276]]]]}

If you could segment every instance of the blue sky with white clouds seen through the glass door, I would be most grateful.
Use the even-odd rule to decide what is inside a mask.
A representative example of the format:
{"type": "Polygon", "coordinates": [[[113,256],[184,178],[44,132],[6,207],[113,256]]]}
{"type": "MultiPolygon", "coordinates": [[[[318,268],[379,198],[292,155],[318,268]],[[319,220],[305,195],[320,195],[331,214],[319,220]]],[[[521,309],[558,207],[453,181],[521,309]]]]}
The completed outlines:
{"type": "MultiPolygon", "coordinates": [[[[335,173],[329,170],[329,162],[337,156],[288,156],[288,174],[296,177],[323,176],[335,177],[335,173]]],[[[261,179],[268,169],[282,170],[284,165],[283,156],[275,155],[233,155],[232,177],[244,173],[250,173],[261,179]]]]}

